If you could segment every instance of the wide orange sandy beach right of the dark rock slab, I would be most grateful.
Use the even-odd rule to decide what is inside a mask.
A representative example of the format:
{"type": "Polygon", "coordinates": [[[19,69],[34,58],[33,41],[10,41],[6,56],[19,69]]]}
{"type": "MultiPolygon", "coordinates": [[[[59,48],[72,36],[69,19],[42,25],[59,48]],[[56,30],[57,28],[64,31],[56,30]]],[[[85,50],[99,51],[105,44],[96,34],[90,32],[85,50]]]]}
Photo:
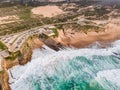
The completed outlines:
{"type": "Polygon", "coordinates": [[[94,42],[113,42],[120,39],[120,22],[119,18],[112,20],[111,23],[105,26],[105,30],[99,32],[88,31],[87,34],[84,32],[75,32],[67,30],[59,32],[59,37],[56,38],[58,42],[61,42],[65,46],[72,46],[76,48],[83,48],[94,42]]]}

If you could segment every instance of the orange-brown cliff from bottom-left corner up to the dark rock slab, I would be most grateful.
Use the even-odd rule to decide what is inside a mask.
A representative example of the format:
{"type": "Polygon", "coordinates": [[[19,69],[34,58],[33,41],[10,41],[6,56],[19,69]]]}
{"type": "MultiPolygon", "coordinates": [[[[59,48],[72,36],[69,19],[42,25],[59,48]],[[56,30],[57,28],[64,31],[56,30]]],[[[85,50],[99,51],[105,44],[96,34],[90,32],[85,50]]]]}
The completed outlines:
{"type": "MultiPolygon", "coordinates": [[[[37,37],[29,38],[24,45],[21,47],[21,56],[17,57],[15,60],[4,60],[3,68],[4,71],[0,74],[0,88],[2,90],[10,90],[9,87],[9,76],[7,70],[15,65],[24,65],[31,60],[32,52],[35,48],[41,48],[43,43],[37,37]]],[[[0,89],[1,90],[1,89],[0,89]]]]}

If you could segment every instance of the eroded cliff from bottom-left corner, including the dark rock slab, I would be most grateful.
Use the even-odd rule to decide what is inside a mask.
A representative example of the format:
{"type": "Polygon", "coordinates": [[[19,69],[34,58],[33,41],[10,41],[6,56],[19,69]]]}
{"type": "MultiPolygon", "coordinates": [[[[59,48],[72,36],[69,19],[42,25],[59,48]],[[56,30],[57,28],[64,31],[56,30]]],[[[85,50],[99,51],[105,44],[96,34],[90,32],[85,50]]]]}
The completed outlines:
{"type": "Polygon", "coordinates": [[[62,44],[60,44],[54,38],[40,39],[38,36],[32,36],[28,38],[28,40],[26,40],[20,49],[20,56],[18,56],[15,60],[4,60],[3,62],[2,65],[4,71],[0,74],[0,86],[2,87],[2,90],[10,90],[7,70],[15,65],[24,65],[29,62],[31,60],[33,50],[35,48],[42,48],[43,45],[47,45],[56,51],[62,47],[62,44]]]}

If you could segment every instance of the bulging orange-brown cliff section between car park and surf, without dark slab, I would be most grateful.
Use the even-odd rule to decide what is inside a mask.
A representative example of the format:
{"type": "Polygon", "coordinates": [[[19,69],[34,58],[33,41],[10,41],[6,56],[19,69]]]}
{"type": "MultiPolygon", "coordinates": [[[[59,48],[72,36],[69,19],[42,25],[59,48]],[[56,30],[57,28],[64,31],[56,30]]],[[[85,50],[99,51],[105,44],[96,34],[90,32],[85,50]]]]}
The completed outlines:
{"type": "Polygon", "coordinates": [[[19,64],[24,65],[29,60],[31,60],[31,56],[33,53],[33,50],[35,48],[41,48],[43,45],[43,42],[40,41],[38,37],[31,37],[27,40],[27,42],[22,46],[21,48],[21,57],[19,57],[18,61],[19,64]]]}

